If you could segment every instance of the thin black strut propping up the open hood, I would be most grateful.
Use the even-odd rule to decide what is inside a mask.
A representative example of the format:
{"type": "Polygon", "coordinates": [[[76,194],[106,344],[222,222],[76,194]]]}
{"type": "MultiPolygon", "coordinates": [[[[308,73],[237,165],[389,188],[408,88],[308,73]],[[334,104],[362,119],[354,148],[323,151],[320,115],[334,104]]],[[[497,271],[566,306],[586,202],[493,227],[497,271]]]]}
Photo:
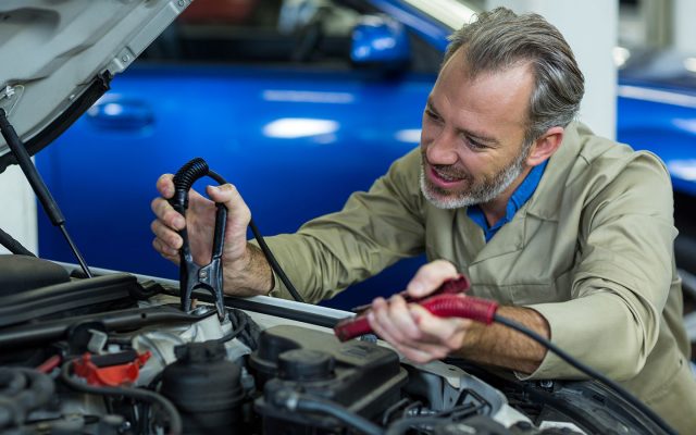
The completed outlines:
{"type": "Polygon", "coordinates": [[[10,124],[10,121],[8,121],[8,115],[4,109],[0,109],[0,132],[2,133],[2,137],[4,137],[4,140],[8,142],[8,147],[10,147],[10,150],[14,154],[14,158],[22,169],[22,172],[24,172],[24,176],[29,182],[29,185],[32,185],[34,194],[41,202],[44,211],[46,211],[46,214],[48,214],[53,226],[60,227],[63,236],[65,237],[65,240],[67,240],[67,245],[70,245],[70,249],[77,258],[83,272],[85,272],[85,275],[87,275],[87,277],[92,277],[87,263],[85,263],[85,259],[79,253],[79,250],[77,250],[77,246],[75,246],[75,244],[73,243],[70,234],[67,234],[67,229],[65,228],[65,217],[63,216],[61,209],[58,207],[58,202],[55,202],[53,196],[46,186],[46,183],[44,183],[44,178],[41,178],[41,175],[36,170],[36,166],[34,166],[32,158],[26,151],[22,139],[14,130],[12,124],[10,124]]]}

